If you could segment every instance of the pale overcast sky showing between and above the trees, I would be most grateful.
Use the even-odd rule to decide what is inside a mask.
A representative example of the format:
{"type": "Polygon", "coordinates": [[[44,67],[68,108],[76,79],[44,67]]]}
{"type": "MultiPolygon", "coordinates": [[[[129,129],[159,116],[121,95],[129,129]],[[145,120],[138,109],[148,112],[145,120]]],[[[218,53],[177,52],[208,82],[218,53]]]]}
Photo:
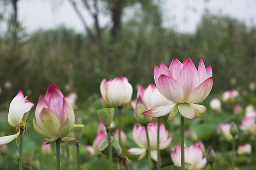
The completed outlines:
{"type": "MultiPolygon", "coordinates": [[[[194,33],[198,22],[205,9],[214,14],[229,15],[245,21],[247,26],[256,23],[255,0],[160,0],[163,12],[163,26],[174,28],[178,32],[194,33]]],[[[2,8],[2,7],[0,7],[2,8]]],[[[82,8],[81,8],[82,9],[82,8]]],[[[3,10],[2,10],[3,11],[3,10]]],[[[7,9],[11,12],[11,8],[7,9]]],[[[82,10],[89,25],[93,24],[89,14],[82,10]]],[[[131,9],[125,14],[131,13],[131,9]]],[[[50,0],[19,0],[18,20],[29,33],[38,29],[51,29],[59,25],[65,25],[77,32],[83,32],[84,28],[70,3],[66,1],[50,0]]],[[[110,16],[100,16],[100,23],[110,21],[110,16]]],[[[2,23],[2,31],[6,25],[2,23]]]]}

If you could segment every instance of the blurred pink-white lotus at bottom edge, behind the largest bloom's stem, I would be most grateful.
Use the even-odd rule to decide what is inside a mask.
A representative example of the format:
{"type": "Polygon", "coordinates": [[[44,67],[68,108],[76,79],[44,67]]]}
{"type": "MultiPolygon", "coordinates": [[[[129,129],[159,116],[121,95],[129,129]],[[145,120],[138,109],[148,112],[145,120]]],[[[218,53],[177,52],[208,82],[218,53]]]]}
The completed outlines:
{"type": "MultiPolygon", "coordinates": [[[[175,166],[181,166],[181,152],[180,143],[176,147],[176,152],[172,146],[172,152],[170,157],[173,160],[175,166]]],[[[185,147],[185,168],[189,170],[201,169],[206,165],[206,157],[203,158],[203,153],[200,144],[190,147],[185,147]]]]}

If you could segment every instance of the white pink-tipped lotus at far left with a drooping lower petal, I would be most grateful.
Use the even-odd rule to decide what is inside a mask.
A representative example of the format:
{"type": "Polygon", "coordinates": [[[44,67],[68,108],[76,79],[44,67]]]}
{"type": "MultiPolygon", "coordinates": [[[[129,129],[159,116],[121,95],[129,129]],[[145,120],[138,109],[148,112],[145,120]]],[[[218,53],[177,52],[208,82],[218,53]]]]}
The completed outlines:
{"type": "MultiPolygon", "coordinates": [[[[18,94],[11,101],[8,113],[8,122],[11,126],[20,128],[26,125],[28,113],[34,106],[34,104],[29,102],[27,99],[28,96],[24,98],[22,90],[19,90],[18,94]]],[[[0,145],[11,142],[13,139],[18,137],[19,133],[20,130],[18,130],[17,134],[15,135],[0,137],[0,145]]]]}

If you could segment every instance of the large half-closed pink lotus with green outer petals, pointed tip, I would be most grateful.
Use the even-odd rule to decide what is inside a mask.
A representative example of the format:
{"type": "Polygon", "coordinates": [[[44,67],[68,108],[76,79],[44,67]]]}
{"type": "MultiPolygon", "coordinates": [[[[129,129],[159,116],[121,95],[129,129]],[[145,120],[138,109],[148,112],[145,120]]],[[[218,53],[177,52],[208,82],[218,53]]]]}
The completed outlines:
{"type": "Polygon", "coordinates": [[[70,133],[75,122],[74,110],[55,84],[50,83],[45,98],[40,95],[35,119],[35,131],[50,143],[70,133]]]}

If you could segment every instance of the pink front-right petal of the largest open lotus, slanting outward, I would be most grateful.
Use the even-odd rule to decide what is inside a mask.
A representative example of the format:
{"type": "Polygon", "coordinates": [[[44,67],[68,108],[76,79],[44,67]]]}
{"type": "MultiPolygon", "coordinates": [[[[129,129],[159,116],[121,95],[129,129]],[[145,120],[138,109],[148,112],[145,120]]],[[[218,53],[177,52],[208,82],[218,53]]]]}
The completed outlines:
{"type": "Polygon", "coordinates": [[[202,102],[210,93],[212,88],[212,77],[206,79],[200,84],[189,96],[187,103],[199,103],[202,102]]]}

